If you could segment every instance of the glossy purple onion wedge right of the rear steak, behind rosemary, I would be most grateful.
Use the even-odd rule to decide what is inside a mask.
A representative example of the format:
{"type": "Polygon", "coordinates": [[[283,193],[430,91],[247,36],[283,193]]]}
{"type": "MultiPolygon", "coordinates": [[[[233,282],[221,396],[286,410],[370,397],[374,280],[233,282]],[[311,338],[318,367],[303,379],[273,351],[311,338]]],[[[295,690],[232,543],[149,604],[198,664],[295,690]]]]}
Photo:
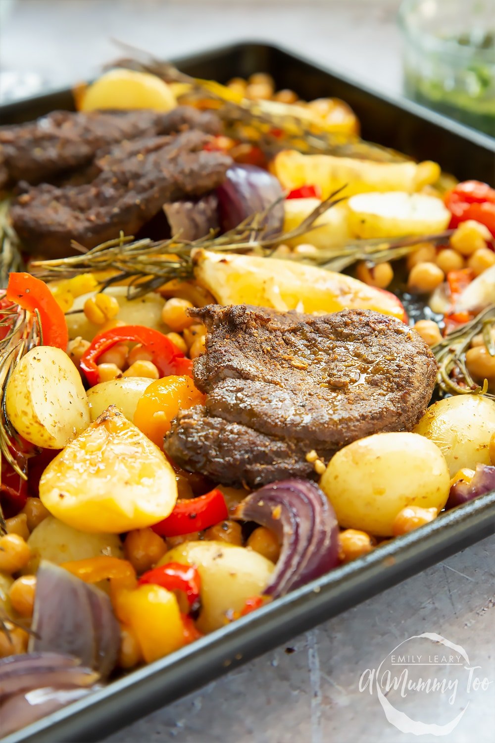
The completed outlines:
{"type": "MultiPolygon", "coordinates": [[[[220,227],[233,230],[255,212],[262,212],[283,197],[282,186],[275,175],[255,165],[232,165],[226,179],[217,188],[220,227]]],[[[279,233],[283,227],[283,201],[266,217],[267,233],[279,233]]]]}

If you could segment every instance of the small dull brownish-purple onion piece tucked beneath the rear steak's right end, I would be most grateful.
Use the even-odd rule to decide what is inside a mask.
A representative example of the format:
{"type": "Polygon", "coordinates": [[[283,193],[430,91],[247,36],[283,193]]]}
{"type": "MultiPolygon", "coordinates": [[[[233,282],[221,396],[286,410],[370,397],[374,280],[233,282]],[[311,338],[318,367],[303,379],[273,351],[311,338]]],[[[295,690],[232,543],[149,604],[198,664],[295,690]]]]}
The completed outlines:
{"type": "Polygon", "coordinates": [[[163,204],[163,211],[170,224],[172,236],[181,240],[206,237],[210,230],[218,230],[218,198],[209,193],[197,201],[173,201],[163,204]]]}

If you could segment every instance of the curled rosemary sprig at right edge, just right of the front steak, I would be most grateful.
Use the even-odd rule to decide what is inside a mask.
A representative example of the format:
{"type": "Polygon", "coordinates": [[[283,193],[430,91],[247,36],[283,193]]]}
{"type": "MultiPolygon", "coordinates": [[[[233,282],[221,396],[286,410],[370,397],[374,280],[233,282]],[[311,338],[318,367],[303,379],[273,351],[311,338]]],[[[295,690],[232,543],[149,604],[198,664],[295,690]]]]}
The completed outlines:
{"type": "Polygon", "coordinates": [[[488,353],[495,356],[495,305],[490,305],[479,313],[471,322],[445,336],[440,343],[431,349],[439,365],[437,384],[443,392],[451,395],[487,395],[495,399],[495,395],[487,392],[488,381],[482,387],[473,380],[466,366],[466,351],[475,335],[482,334],[488,353]]]}

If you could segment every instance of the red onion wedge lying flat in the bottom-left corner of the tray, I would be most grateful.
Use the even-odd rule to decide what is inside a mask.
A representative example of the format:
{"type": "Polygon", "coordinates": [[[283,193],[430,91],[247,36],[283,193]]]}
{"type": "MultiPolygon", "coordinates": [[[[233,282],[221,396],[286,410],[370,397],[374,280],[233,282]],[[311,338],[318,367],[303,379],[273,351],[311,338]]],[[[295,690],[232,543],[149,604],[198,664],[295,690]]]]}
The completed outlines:
{"type": "Polygon", "coordinates": [[[53,652],[0,660],[0,734],[6,736],[93,691],[99,674],[53,652]]]}

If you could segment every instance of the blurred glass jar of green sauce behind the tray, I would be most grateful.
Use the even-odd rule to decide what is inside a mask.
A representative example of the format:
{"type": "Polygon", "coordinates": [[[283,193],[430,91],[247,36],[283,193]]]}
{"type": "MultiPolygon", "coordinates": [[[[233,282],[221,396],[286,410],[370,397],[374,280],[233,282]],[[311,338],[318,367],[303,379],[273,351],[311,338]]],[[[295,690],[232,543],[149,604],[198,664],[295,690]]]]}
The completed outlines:
{"type": "Polygon", "coordinates": [[[495,0],[404,0],[408,97],[495,136],[495,0]]]}

